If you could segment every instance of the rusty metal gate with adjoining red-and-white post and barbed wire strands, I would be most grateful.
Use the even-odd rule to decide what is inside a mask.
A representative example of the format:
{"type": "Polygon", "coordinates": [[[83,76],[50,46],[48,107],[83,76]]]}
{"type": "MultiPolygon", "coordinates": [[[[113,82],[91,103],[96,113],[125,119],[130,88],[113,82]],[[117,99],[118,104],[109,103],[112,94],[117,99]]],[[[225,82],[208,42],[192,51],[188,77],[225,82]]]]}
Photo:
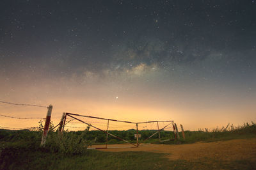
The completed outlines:
{"type": "MultiPolygon", "coordinates": [[[[44,132],[42,135],[42,141],[41,141],[41,146],[43,146],[45,144],[46,138],[47,138],[47,133],[49,131],[49,127],[51,127],[51,113],[52,113],[52,105],[49,105],[49,107],[44,106],[44,105],[36,105],[36,104],[16,104],[16,103],[12,103],[12,102],[5,102],[3,100],[0,100],[0,103],[3,104],[10,104],[10,105],[21,105],[21,106],[30,106],[30,107],[44,107],[47,108],[47,115],[46,118],[40,118],[40,117],[16,117],[16,116],[9,116],[6,114],[0,114],[0,116],[5,117],[5,118],[11,118],[11,119],[16,119],[16,120],[41,120],[41,126],[42,128],[44,128],[44,132]],[[42,126],[42,120],[45,120],[45,125],[44,127],[42,126]]],[[[153,135],[156,135],[157,133],[159,134],[159,142],[163,142],[161,140],[161,135],[160,132],[162,130],[167,130],[166,128],[171,128],[173,127],[173,132],[175,133],[175,138],[177,135],[177,139],[179,139],[179,132],[177,130],[177,125],[176,123],[173,122],[173,120],[165,120],[165,121],[145,121],[145,122],[131,122],[131,121],[120,121],[120,120],[113,120],[113,119],[106,119],[106,118],[97,118],[94,116],[86,116],[86,115],[81,115],[81,114],[73,114],[73,113],[68,113],[68,112],[63,112],[63,115],[61,117],[61,121],[60,123],[58,123],[58,125],[56,125],[55,127],[52,126],[52,130],[54,130],[54,128],[59,127],[58,131],[59,132],[63,132],[64,127],[66,126],[67,128],[72,128],[72,129],[76,129],[79,128],[79,130],[81,130],[81,126],[77,126],[79,124],[77,124],[77,122],[73,124],[72,121],[77,120],[79,121],[79,123],[83,123],[83,125],[87,125],[88,127],[92,127],[95,130],[100,130],[102,132],[104,132],[106,135],[106,148],[107,144],[108,144],[108,135],[111,135],[112,137],[115,137],[116,139],[119,139],[121,141],[124,141],[125,143],[129,143],[132,144],[132,147],[138,147],[139,146],[139,141],[138,138],[140,137],[140,134],[138,134],[138,125],[140,125],[140,130],[155,130],[156,132],[154,132],[154,134],[150,135],[149,137],[147,137],[147,139],[144,139],[144,141],[150,139],[150,137],[152,137],[153,135]],[[68,118],[69,120],[68,120],[68,118]],[[74,116],[79,116],[79,118],[76,118],[74,116]],[[81,120],[81,118],[86,118],[86,120],[81,120]],[[95,121],[97,120],[97,121],[95,121]],[[111,121],[111,123],[109,123],[109,121],[111,121]],[[67,126],[67,124],[70,123],[71,125],[73,124],[74,126],[67,126]],[[125,125],[123,125],[125,123],[125,125]],[[164,124],[165,123],[165,124],[164,124]],[[92,125],[93,124],[93,125],[92,125]],[[160,126],[159,126],[160,124],[160,126]],[[163,125],[161,125],[163,124],[163,125]],[[95,126],[96,125],[96,126],[95,126]],[[157,129],[156,129],[156,125],[157,125],[157,129]],[[107,128],[106,128],[107,127],[107,128]],[[106,130],[105,130],[106,128],[106,130]],[[126,139],[122,139],[121,137],[118,137],[116,135],[113,135],[111,133],[109,133],[109,130],[136,130],[136,134],[134,134],[134,137],[136,137],[136,144],[132,143],[132,141],[127,141],[126,139]]],[[[13,130],[19,130],[19,129],[28,129],[28,130],[38,130],[36,129],[36,127],[8,127],[8,126],[2,126],[0,124],[0,129],[4,128],[4,129],[13,129],[13,130]]],[[[93,130],[94,130],[93,129],[93,130]]],[[[182,129],[183,132],[183,129],[182,129]]],[[[170,141],[171,139],[167,139],[164,141],[170,141]]]]}

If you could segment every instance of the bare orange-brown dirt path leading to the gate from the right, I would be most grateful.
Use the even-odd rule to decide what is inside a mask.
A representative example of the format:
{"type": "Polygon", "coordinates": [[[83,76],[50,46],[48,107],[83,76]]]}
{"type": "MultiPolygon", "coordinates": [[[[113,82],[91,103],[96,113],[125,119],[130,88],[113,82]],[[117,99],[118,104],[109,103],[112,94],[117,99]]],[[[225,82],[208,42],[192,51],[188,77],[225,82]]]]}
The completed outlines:
{"type": "MultiPolygon", "coordinates": [[[[124,146],[124,144],[109,144],[108,146],[120,147],[124,146]]],[[[115,148],[102,151],[170,153],[166,157],[171,160],[196,160],[198,158],[214,158],[216,160],[241,160],[246,158],[256,160],[256,138],[194,144],[145,144],[139,148],[115,148]]]]}

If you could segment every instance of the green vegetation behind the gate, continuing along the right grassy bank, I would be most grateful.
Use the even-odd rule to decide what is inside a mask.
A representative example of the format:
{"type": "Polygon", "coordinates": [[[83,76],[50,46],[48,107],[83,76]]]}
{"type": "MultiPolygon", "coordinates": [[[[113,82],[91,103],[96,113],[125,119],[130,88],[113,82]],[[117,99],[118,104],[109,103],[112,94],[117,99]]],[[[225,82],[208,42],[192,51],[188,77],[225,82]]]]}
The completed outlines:
{"type": "MultiPolygon", "coordinates": [[[[80,135],[83,131],[74,132],[77,135],[80,135]]],[[[140,143],[160,143],[158,133],[152,136],[147,141],[144,141],[150,135],[157,132],[157,130],[139,130],[138,134],[141,134],[141,138],[139,140],[140,143]]],[[[109,133],[121,137],[131,143],[136,143],[136,139],[134,138],[134,134],[136,134],[136,130],[109,130],[109,133]]],[[[175,135],[172,131],[161,131],[161,140],[164,141],[166,139],[171,139],[170,141],[164,142],[164,144],[180,144],[180,143],[196,143],[199,141],[211,142],[211,141],[220,141],[220,140],[229,140],[229,139],[241,139],[241,138],[250,138],[256,137],[256,124],[252,122],[252,124],[244,123],[244,125],[234,127],[234,125],[228,124],[227,127],[222,128],[214,128],[211,131],[207,128],[199,129],[198,131],[185,131],[186,140],[182,138],[182,133],[179,132],[180,140],[174,140],[175,135]]],[[[103,144],[106,143],[106,134],[100,132],[99,130],[92,130],[86,134],[86,140],[92,141],[92,144],[103,144]]],[[[124,143],[108,135],[108,143],[116,144],[116,143],[124,143]]]]}

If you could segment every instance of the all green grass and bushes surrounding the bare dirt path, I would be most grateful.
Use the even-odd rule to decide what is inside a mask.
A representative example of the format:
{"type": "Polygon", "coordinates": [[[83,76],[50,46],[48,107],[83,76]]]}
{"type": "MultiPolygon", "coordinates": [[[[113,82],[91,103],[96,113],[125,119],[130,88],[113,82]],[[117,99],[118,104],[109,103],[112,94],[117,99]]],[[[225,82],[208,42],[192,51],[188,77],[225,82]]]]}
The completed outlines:
{"type": "MultiPolygon", "coordinates": [[[[188,162],[168,160],[165,154],[161,153],[132,151],[113,153],[86,150],[86,146],[97,142],[95,136],[100,138],[99,132],[88,131],[88,129],[89,127],[79,132],[63,132],[63,135],[51,130],[44,147],[40,147],[42,128],[36,131],[0,130],[0,169],[255,169],[256,167],[256,163],[252,160],[224,162],[207,158],[207,160],[188,162]]],[[[123,134],[120,137],[134,140],[132,130],[112,133],[123,134]]],[[[154,132],[150,130],[140,131],[142,139],[145,139],[144,135],[148,137],[152,133],[154,132]]],[[[168,131],[162,133],[163,137],[164,133],[166,133],[166,138],[174,137],[168,131]]],[[[256,125],[255,123],[246,123],[239,127],[228,125],[211,132],[198,130],[196,132],[186,131],[185,134],[186,140],[183,140],[180,134],[180,141],[166,143],[195,143],[196,141],[210,142],[256,137],[256,125]]],[[[116,142],[111,140],[113,143],[116,142]]],[[[157,134],[151,141],[157,143],[157,134]]]]}

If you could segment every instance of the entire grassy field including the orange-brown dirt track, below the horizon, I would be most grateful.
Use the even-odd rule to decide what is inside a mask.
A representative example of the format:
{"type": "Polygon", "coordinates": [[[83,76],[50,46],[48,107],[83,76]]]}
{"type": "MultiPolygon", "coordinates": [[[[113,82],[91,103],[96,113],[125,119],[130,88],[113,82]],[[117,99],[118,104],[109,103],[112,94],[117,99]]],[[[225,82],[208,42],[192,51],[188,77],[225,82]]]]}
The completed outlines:
{"type": "Polygon", "coordinates": [[[41,132],[0,130],[0,169],[256,169],[254,123],[212,132],[186,131],[186,140],[159,144],[152,139],[155,144],[108,150],[79,148],[81,133],[67,132],[62,141],[69,145],[63,152],[52,144],[54,134],[58,135],[49,135],[51,144],[41,148],[41,132]]]}

